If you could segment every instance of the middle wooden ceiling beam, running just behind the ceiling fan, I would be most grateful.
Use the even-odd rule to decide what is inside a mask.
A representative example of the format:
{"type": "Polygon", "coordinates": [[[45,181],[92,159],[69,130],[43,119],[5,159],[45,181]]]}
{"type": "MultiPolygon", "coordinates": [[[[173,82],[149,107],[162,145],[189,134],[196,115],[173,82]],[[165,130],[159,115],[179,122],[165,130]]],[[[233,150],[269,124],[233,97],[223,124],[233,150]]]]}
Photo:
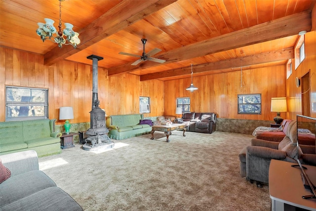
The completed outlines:
{"type": "MultiPolygon", "coordinates": [[[[166,60],[166,62],[162,63],[165,65],[251,44],[297,35],[300,31],[304,30],[309,32],[311,28],[312,12],[307,10],[216,38],[173,49],[155,57],[166,60]]],[[[161,63],[154,62],[141,62],[136,66],[130,64],[131,63],[110,68],[108,75],[112,76],[161,65],[161,63]]]]}

